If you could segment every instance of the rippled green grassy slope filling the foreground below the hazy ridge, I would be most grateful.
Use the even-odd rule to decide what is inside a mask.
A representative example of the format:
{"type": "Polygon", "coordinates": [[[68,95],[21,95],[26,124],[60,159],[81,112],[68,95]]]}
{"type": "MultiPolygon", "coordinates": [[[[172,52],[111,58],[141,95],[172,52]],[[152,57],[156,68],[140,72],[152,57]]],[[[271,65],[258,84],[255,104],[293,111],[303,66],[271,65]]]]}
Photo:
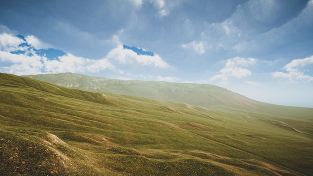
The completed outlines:
{"type": "Polygon", "coordinates": [[[311,174],[311,108],[203,109],[2,73],[0,97],[1,175],[311,174]]]}

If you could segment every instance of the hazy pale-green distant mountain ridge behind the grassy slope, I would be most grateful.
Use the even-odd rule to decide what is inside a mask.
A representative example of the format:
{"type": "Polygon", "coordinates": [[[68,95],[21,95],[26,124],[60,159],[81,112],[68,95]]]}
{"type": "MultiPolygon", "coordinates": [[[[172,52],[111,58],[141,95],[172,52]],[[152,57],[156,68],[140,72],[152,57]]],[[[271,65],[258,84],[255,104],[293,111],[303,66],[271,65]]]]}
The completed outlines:
{"type": "Polygon", "coordinates": [[[87,91],[135,95],[202,107],[255,108],[261,102],[211,84],[119,80],[76,73],[25,75],[60,86],[87,91]]]}

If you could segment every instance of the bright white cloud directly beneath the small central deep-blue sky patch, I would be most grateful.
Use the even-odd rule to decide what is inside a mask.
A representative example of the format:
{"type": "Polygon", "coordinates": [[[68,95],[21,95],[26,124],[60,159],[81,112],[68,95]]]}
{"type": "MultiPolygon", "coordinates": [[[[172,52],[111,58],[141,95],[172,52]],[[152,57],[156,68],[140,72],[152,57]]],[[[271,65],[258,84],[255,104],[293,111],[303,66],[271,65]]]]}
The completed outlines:
{"type": "Polygon", "coordinates": [[[121,44],[116,48],[109,51],[106,55],[107,59],[115,59],[120,63],[132,63],[133,61],[141,65],[154,65],[154,67],[166,68],[168,64],[157,54],[151,55],[138,55],[131,49],[125,49],[121,44]]]}

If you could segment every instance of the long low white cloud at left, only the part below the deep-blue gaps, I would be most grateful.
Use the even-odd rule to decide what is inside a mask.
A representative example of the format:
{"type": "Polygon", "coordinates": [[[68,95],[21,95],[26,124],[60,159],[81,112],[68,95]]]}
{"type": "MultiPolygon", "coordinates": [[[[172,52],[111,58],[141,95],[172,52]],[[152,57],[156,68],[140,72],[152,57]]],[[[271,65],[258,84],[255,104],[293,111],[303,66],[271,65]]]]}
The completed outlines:
{"type": "Polygon", "coordinates": [[[106,68],[114,68],[114,66],[105,58],[92,60],[77,57],[70,53],[59,56],[57,60],[49,60],[45,56],[37,55],[36,53],[14,54],[0,51],[0,61],[10,63],[9,66],[0,67],[1,70],[17,75],[40,74],[43,72],[98,72],[106,68]]]}

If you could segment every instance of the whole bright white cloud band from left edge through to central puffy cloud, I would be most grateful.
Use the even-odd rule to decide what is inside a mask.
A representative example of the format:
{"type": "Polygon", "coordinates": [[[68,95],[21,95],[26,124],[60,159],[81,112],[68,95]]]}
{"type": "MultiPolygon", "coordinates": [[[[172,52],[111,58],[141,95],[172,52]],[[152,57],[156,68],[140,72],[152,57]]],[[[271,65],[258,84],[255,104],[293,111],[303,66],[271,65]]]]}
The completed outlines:
{"type": "Polygon", "coordinates": [[[0,34],[0,62],[2,62],[1,65],[6,66],[0,66],[0,71],[17,75],[59,72],[94,73],[105,69],[115,70],[114,60],[118,61],[116,64],[168,67],[168,64],[157,54],[138,55],[131,49],[123,48],[121,44],[101,59],[84,58],[71,53],[48,58],[45,52],[51,52],[46,50],[49,47],[51,47],[50,44],[41,42],[33,35],[22,37],[2,33],[0,34]]]}

